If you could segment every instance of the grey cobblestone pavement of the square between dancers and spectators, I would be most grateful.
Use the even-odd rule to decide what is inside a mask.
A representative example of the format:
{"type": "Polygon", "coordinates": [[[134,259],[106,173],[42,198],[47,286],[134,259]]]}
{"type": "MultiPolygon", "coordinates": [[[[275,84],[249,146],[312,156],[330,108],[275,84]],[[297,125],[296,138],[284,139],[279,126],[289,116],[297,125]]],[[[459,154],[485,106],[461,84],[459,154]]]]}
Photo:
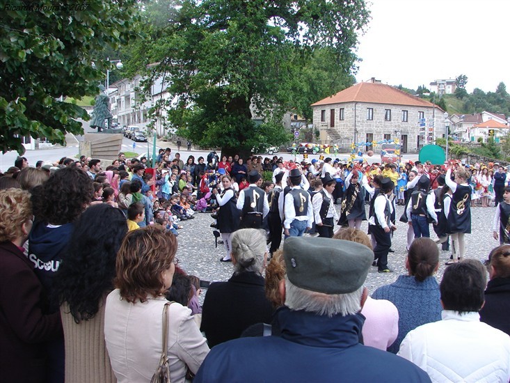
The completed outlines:
{"type": "MultiPolygon", "coordinates": [[[[337,208],[339,206],[337,205],[337,208]]],[[[368,206],[367,215],[368,215],[368,206]]],[[[407,245],[407,224],[398,221],[398,217],[402,214],[404,208],[397,206],[397,230],[392,240],[392,249],[395,253],[388,256],[388,266],[394,272],[388,274],[380,274],[377,267],[371,267],[365,286],[369,288],[370,293],[374,292],[379,286],[392,283],[400,274],[406,274],[406,245],[407,245]]],[[[466,240],[466,258],[475,258],[485,260],[488,253],[499,245],[499,242],[492,236],[492,220],[495,208],[471,208],[471,234],[465,235],[466,240]]],[[[220,262],[220,258],[225,255],[223,244],[214,246],[213,228],[209,227],[213,219],[209,213],[195,213],[196,219],[180,222],[184,228],[179,230],[177,240],[179,247],[177,250],[177,258],[179,258],[180,266],[186,270],[188,274],[198,276],[200,279],[207,281],[226,281],[232,275],[232,263],[220,262]]],[[[363,221],[361,229],[366,232],[367,221],[363,221]]],[[[335,226],[335,230],[338,226],[335,226]]],[[[436,238],[431,228],[431,237],[436,238]]],[[[283,244],[282,244],[283,246],[283,244]]],[[[445,262],[451,255],[450,251],[440,251],[440,263],[436,278],[438,282],[443,276],[445,270],[445,262]]]]}

